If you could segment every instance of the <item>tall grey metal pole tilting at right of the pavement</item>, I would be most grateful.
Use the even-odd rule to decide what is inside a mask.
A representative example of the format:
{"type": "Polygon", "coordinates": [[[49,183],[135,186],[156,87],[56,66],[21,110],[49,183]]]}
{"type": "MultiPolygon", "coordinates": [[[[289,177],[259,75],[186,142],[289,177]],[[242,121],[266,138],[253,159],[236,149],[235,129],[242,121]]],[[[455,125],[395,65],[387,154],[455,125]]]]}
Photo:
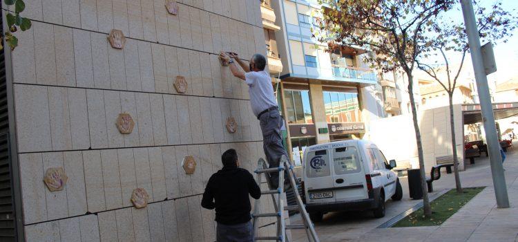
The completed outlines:
{"type": "Polygon", "coordinates": [[[503,176],[500,144],[497,138],[497,126],[495,124],[495,116],[493,115],[491,96],[489,94],[488,78],[486,77],[480,50],[479,31],[475,21],[472,0],[461,0],[461,5],[464,23],[466,24],[466,32],[468,33],[468,43],[470,45],[475,80],[477,80],[480,109],[482,111],[484,130],[486,131],[486,142],[488,143],[493,186],[495,187],[495,196],[497,197],[497,207],[506,208],[509,207],[506,178],[503,176]]]}

